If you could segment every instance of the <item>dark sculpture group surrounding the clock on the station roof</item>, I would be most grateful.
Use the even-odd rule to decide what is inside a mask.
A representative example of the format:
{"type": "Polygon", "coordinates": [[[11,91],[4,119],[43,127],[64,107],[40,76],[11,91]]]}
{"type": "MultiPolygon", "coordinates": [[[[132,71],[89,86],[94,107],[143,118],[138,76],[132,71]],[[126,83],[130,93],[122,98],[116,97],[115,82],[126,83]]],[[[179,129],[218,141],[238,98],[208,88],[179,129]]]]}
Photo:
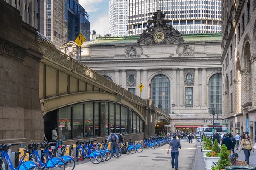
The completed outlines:
{"type": "Polygon", "coordinates": [[[168,25],[172,20],[165,20],[166,12],[157,10],[153,14],[152,20],[148,20],[148,23],[154,23],[153,26],[147,26],[147,29],[143,30],[140,34],[140,38],[137,40],[139,44],[173,44],[174,42],[183,42],[183,37],[180,32],[168,25]],[[159,41],[155,36],[159,35],[159,41]]]}

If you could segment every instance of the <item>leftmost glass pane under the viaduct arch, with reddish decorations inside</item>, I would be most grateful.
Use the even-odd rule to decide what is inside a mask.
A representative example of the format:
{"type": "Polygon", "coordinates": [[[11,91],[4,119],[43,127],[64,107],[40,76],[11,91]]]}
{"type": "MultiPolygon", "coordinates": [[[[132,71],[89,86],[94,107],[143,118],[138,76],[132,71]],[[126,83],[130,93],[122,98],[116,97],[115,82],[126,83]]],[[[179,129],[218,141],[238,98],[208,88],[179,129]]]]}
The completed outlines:
{"type": "Polygon", "coordinates": [[[61,139],[71,139],[71,107],[59,109],[58,135],[61,139]]]}

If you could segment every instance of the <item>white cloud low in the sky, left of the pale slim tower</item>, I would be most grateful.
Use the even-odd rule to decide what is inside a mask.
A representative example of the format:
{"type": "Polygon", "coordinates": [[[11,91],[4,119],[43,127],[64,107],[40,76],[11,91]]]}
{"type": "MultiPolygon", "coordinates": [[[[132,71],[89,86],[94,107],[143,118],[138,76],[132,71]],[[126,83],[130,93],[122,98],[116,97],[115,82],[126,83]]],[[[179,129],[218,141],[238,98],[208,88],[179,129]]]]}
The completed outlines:
{"type": "Polygon", "coordinates": [[[96,34],[101,36],[106,35],[108,31],[108,14],[102,14],[97,17],[97,20],[94,20],[90,23],[90,29],[95,29],[96,34]]]}

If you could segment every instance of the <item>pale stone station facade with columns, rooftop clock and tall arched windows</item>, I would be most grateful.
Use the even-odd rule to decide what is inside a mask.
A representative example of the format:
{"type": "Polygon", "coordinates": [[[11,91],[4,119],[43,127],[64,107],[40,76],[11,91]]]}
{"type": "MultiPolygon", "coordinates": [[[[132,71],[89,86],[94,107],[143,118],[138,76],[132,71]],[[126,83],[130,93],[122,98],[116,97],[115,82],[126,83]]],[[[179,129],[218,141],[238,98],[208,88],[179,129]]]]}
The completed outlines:
{"type": "MultiPolygon", "coordinates": [[[[211,126],[208,106],[212,104],[219,106],[220,122],[221,34],[181,36],[171,26],[161,26],[148,27],[155,32],[144,31],[140,37],[102,37],[84,42],[81,62],[137,96],[152,99],[166,113],[183,115],[177,121],[178,116],[171,114],[171,131],[176,126],[176,130],[211,126]],[[144,85],[141,93],[140,84],[144,85]]],[[[75,42],[67,43],[76,46],[75,42]]]]}

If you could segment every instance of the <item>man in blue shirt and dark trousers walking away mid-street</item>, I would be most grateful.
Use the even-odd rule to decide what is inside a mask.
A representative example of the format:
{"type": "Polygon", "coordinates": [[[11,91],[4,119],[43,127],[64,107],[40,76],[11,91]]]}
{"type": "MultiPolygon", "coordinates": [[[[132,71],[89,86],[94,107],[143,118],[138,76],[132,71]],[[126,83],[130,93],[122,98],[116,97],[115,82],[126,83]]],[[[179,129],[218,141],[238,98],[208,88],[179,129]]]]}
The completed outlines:
{"type": "Polygon", "coordinates": [[[172,168],[174,168],[175,166],[175,170],[178,170],[179,146],[181,148],[181,144],[180,144],[180,141],[176,139],[176,137],[177,136],[175,134],[172,136],[173,139],[169,143],[167,154],[169,154],[169,149],[172,146],[172,150],[171,150],[172,168]],[[174,163],[174,160],[175,160],[175,163],[174,163]]]}

